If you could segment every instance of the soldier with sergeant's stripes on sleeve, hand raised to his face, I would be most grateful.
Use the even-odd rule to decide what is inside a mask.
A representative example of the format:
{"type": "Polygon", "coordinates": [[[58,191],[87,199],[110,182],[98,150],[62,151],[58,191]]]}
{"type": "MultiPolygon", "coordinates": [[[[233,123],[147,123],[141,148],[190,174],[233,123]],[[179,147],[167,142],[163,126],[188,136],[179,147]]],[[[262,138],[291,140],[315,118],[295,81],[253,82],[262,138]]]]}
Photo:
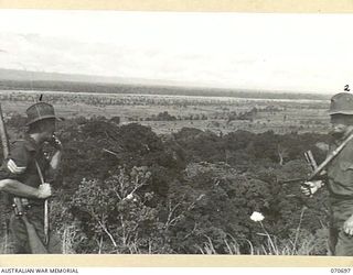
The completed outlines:
{"type": "MultiPolygon", "coordinates": [[[[53,106],[38,102],[26,110],[28,132],[24,140],[14,142],[9,156],[0,168],[0,187],[14,196],[14,213],[10,218],[10,230],[14,239],[14,253],[33,252],[31,239],[24,219],[20,219],[22,211],[25,220],[34,228],[36,238],[34,246],[45,248],[43,253],[61,253],[58,238],[47,229],[47,211],[45,198],[51,196],[49,186],[60,166],[62,144],[55,138],[55,120],[53,106]],[[55,153],[47,160],[43,153],[44,143],[50,143],[55,153]],[[46,179],[46,180],[45,180],[46,179]],[[46,183],[44,183],[44,180],[46,183]]],[[[41,252],[40,252],[41,253],[41,252]]]]}

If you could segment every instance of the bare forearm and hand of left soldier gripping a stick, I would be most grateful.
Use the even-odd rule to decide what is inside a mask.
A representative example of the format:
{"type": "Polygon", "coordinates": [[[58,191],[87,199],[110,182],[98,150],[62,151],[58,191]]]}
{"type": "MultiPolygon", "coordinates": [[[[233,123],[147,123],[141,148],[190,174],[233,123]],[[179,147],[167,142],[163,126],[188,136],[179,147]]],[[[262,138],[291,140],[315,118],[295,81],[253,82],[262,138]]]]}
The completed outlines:
{"type": "Polygon", "coordinates": [[[0,180],[0,191],[6,191],[19,197],[45,199],[52,196],[50,185],[41,185],[39,188],[24,185],[15,179],[6,178],[0,180]]]}

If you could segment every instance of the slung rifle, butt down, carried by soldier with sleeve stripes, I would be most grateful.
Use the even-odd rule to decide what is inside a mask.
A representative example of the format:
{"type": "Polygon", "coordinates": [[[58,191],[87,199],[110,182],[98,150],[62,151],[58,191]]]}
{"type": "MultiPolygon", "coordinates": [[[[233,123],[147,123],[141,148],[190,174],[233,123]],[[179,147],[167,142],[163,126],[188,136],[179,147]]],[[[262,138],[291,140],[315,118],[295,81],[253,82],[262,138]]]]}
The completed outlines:
{"type": "MultiPolygon", "coordinates": [[[[0,135],[1,135],[1,144],[3,150],[3,158],[6,160],[10,153],[10,145],[9,145],[7,128],[3,121],[1,105],[0,105],[0,135]]],[[[32,254],[47,254],[47,250],[42,243],[42,240],[39,238],[35,231],[35,228],[28,220],[25,216],[25,211],[24,211],[21,199],[14,198],[12,207],[14,208],[15,215],[21,218],[21,220],[25,226],[32,254]]]]}

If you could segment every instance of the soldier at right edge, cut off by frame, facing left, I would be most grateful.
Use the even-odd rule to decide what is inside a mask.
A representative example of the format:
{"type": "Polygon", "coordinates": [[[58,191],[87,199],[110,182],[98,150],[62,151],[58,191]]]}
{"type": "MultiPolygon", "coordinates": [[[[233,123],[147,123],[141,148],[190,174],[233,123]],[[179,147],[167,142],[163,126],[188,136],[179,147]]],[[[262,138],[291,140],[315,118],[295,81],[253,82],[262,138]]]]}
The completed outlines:
{"type": "MultiPolygon", "coordinates": [[[[353,134],[353,95],[341,92],[332,97],[331,135],[329,154],[353,134]]],[[[353,256],[353,140],[350,140],[327,166],[327,187],[330,194],[331,255],[353,256]]],[[[312,196],[323,186],[322,180],[306,183],[302,193],[312,196]]]]}

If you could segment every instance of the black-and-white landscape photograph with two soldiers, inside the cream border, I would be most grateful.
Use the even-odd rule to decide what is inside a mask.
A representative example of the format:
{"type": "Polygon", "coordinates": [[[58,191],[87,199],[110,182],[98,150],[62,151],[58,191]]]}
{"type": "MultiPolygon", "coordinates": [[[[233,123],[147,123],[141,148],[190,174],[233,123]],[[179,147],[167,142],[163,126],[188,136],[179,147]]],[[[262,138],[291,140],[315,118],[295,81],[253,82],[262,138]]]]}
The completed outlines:
{"type": "Polygon", "coordinates": [[[0,9],[0,253],[352,256],[352,25],[0,9]]]}

